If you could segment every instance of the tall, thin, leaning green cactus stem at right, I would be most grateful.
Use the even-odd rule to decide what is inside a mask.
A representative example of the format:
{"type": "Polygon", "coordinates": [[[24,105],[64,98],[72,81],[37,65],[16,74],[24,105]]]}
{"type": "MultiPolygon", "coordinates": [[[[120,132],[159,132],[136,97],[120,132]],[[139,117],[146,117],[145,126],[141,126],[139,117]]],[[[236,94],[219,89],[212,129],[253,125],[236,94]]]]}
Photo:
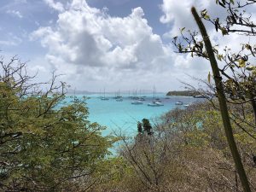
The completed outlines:
{"type": "Polygon", "coordinates": [[[204,43],[205,43],[205,46],[207,49],[207,55],[209,56],[209,60],[211,62],[213,79],[215,81],[216,90],[217,90],[217,94],[218,94],[218,102],[219,102],[219,108],[220,108],[220,112],[221,112],[221,116],[222,116],[222,120],[223,120],[225,136],[229,143],[229,147],[230,147],[230,151],[231,151],[233,160],[235,161],[236,171],[238,172],[238,175],[240,177],[243,190],[245,192],[251,192],[251,189],[250,189],[250,186],[248,183],[248,179],[247,179],[247,175],[246,175],[246,172],[241,163],[241,157],[240,157],[240,154],[238,153],[235,139],[233,136],[232,127],[230,124],[229,111],[227,108],[226,98],[224,95],[224,87],[222,84],[222,77],[220,76],[220,73],[218,70],[218,63],[217,63],[214,53],[213,53],[212,44],[211,44],[210,38],[207,35],[206,27],[204,26],[203,22],[201,21],[200,16],[197,14],[195,7],[192,7],[191,12],[195,18],[197,26],[199,27],[199,29],[201,31],[201,36],[204,40],[204,43]]]}

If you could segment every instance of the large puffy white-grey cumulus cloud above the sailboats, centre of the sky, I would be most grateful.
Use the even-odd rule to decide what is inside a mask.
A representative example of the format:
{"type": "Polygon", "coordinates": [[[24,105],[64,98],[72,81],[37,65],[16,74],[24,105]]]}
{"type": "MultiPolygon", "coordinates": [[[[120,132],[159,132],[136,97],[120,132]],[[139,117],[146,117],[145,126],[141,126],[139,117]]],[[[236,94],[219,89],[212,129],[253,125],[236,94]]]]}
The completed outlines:
{"type": "Polygon", "coordinates": [[[160,72],[172,61],[172,49],[152,32],[142,8],[125,17],[112,17],[81,0],[66,8],[55,24],[31,34],[48,50],[46,59],[60,73],[72,79],[119,82],[125,76],[143,77],[142,70],[160,72]]]}

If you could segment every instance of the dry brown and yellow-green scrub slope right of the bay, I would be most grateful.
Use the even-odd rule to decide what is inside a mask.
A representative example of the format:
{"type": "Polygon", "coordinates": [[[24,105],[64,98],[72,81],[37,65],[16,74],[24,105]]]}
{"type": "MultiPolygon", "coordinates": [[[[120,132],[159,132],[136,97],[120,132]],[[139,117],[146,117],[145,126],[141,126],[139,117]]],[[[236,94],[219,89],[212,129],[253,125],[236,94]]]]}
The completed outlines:
{"type": "MultiPolygon", "coordinates": [[[[236,105],[229,107],[230,111],[238,110],[236,105]]],[[[250,105],[245,108],[252,123],[250,105]]],[[[193,104],[185,110],[176,108],[151,123],[151,135],[145,131],[138,132],[137,137],[120,136],[122,145],[112,174],[106,183],[91,191],[242,191],[221,113],[211,102],[193,104]]],[[[232,122],[232,126],[251,189],[255,191],[256,133],[252,131],[250,137],[236,123],[232,122]]]]}

